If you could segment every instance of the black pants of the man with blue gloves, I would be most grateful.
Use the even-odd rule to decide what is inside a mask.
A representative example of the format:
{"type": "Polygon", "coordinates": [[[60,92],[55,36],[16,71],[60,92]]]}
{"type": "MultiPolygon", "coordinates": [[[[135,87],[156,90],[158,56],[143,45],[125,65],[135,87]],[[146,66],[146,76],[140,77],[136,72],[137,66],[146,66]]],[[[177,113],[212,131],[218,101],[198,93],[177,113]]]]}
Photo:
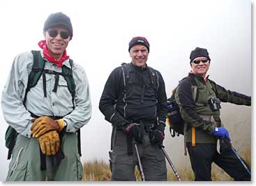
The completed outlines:
{"type": "MultiPolygon", "coordinates": [[[[220,153],[216,144],[186,144],[195,181],[211,181],[211,164],[216,163],[235,181],[250,181],[250,175],[234,152],[225,143],[220,143],[220,153]]],[[[243,162],[245,162],[243,160],[243,162]]],[[[246,164],[246,162],[245,162],[246,164]]],[[[249,168],[248,164],[246,166],[249,168]]]]}

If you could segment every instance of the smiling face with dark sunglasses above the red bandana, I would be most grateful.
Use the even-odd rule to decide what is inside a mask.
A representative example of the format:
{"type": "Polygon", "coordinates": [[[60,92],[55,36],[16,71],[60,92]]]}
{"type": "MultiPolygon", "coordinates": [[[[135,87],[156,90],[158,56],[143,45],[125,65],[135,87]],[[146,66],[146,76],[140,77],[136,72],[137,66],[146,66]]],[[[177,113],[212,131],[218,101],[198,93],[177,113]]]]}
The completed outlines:
{"type": "Polygon", "coordinates": [[[68,30],[61,27],[54,27],[44,33],[47,49],[56,60],[61,59],[63,52],[68,47],[70,36],[68,30]]]}

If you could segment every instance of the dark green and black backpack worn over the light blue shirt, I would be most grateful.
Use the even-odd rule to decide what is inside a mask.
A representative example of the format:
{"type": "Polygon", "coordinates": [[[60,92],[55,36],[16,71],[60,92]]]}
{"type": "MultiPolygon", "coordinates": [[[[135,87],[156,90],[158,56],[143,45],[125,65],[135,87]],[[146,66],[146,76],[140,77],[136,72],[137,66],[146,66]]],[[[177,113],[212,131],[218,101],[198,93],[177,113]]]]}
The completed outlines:
{"type": "MultiPolygon", "coordinates": [[[[27,100],[27,93],[29,92],[30,88],[33,86],[36,86],[38,83],[38,80],[40,79],[40,76],[43,75],[43,91],[45,97],[46,95],[46,84],[45,84],[45,73],[48,74],[54,74],[56,75],[55,78],[55,85],[54,85],[54,90],[57,91],[57,86],[59,82],[59,75],[62,75],[68,84],[68,91],[72,95],[72,102],[73,102],[73,109],[75,109],[75,104],[74,104],[74,98],[75,98],[75,82],[73,79],[73,72],[72,72],[72,67],[73,67],[73,60],[70,59],[69,63],[71,68],[66,67],[66,65],[62,65],[62,72],[55,72],[53,70],[45,70],[45,60],[40,56],[40,51],[31,51],[33,54],[33,67],[32,70],[29,74],[29,81],[27,85],[27,89],[25,92],[23,104],[25,105],[25,102],[27,100]]],[[[17,138],[17,131],[13,128],[8,126],[6,130],[6,135],[5,135],[5,140],[6,140],[6,147],[8,148],[8,157],[7,160],[10,160],[11,154],[13,152],[13,147],[15,146],[16,138],[17,138]]],[[[77,130],[77,139],[78,139],[78,150],[81,156],[81,148],[80,148],[80,130],[77,130]]]]}

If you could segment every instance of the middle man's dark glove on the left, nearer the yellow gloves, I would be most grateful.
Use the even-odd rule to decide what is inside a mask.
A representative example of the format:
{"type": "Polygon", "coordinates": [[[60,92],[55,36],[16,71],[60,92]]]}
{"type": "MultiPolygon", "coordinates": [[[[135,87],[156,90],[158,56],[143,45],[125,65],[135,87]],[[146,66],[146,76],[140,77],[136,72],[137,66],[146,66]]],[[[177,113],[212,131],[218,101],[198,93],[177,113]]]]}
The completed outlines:
{"type": "Polygon", "coordinates": [[[123,126],[123,131],[132,135],[137,143],[142,144],[143,132],[140,129],[140,124],[128,123],[123,126]]]}

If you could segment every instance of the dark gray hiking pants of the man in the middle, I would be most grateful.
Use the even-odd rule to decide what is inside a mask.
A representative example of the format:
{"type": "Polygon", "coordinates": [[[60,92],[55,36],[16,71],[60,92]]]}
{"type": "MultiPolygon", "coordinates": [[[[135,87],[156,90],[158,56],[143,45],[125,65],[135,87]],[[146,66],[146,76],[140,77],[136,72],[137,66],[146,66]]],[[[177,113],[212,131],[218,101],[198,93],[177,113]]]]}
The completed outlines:
{"type": "MultiPolygon", "coordinates": [[[[135,146],[133,155],[128,155],[126,133],[116,130],[112,136],[113,149],[110,151],[112,180],[135,181],[135,166],[138,165],[135,146]]],[[[166,181],[167,169],[162,150],[150,144],[149,133],[144,132],[144,144],[137,145],[146,181],[166,181]]]]}

